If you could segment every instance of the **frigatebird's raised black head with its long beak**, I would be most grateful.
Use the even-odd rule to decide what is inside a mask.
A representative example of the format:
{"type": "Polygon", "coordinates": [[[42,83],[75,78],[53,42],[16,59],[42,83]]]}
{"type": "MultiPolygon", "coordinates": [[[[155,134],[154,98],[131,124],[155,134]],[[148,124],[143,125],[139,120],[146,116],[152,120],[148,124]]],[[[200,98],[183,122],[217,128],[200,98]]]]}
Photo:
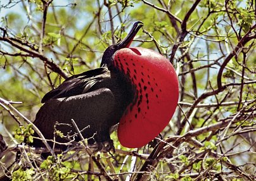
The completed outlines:
{"type": "Polygon", "coordinates": [[[132,29],[130,30],[129,34],[127,34],[127,36],[122,41],[109,46],[103,53],[100,66],[110,67],[113,61],[113,54],[115,54],[115,52],[117,52],[119,49],[129,47],[141,27],[143,27],[143,22],[135,22],[132,25],[132,29]]]}

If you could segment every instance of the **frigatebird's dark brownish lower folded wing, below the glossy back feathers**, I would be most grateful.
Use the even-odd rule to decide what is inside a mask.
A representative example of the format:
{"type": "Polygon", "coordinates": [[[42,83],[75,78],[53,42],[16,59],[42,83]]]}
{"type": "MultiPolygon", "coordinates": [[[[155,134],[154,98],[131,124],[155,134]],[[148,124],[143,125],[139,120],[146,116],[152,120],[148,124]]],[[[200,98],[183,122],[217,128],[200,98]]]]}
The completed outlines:
{"type": "MultiPolygon", "coordinates": [[[[115,125],[120,117],[114,113],[115,97],[110,89],[101,88],[65,98],[50,99],[38,111],[34,124],[39,128],[46,139],[53,139],[54,125],[64,135],[70,130],[74,130],[71,119],[75,120],[79,130],[84,130],[82,135],[85,138],[92,137],[97,142],[104,142],[110,139],[109,129],[115,125]]],[[[67,142],[67,140],[56,137],[57,142],[67,142]]],[[[43,146],[40,140],[34,140],[34,146],[43,146]]],[[[56,146],[58,147],[58,146],[56,146]]]]}

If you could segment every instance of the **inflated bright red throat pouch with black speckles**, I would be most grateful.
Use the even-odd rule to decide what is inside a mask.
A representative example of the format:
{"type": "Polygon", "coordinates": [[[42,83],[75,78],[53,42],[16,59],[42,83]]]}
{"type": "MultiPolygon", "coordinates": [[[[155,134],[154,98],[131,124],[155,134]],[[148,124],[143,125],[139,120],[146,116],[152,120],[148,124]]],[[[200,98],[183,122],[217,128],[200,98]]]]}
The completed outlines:
{"type": "Polygon", "coordinates": [[[122,146],[142,147],[160,134],[174,115],[178,78],[170,61],[150,49],[123,48],[113,57],[113,65],[121,67],[136,88],[119,122],[118,139],[122,146]]]}

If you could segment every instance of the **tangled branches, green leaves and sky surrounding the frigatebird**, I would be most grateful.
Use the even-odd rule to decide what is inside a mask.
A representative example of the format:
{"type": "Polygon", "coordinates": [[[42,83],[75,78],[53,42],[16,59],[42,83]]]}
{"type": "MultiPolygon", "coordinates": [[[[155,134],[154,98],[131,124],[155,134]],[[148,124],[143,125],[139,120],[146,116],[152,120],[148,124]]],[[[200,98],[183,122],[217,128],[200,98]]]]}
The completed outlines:
{"type": "Polygon", "coordinates": [[[255,180],[255,3],[1,1],[2,171],[13,180],[255,180]],[[163,140],[127,149],[114,133],[116,153],[39,159],[22,143],[33,132],[25,118],[33,121],[42,96],[65,78],[97,68],[138,20],[144,30],[132,46],[162,53],[179,75],[179,105],[163,140]]]}

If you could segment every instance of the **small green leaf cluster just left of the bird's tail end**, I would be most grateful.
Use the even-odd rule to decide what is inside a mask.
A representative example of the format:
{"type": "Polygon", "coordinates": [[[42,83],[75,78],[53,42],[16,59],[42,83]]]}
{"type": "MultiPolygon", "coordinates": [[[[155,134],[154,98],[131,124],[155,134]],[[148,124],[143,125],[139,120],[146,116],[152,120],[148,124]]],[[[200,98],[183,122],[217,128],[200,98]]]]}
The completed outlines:
{"type": "Polygon", "coordinates": [[[32,125],[28,125],[27,127],[20,126],[20,128],[16,129],[15,139],[19,142],[31,143],[33,142],[33,134],[32,125]]]}

